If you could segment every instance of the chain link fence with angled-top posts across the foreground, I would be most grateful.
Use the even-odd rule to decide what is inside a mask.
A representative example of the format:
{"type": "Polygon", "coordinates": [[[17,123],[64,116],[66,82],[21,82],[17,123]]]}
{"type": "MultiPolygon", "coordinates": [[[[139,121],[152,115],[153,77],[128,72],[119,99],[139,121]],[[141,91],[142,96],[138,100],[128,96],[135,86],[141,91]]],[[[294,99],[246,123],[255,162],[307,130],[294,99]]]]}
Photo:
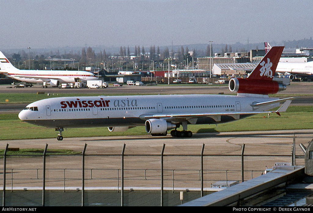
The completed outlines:
{"type": "Polygon", "coordinates": [[[296,143],[288,145],[288,155],[245,154],[250,146],[224,155],[203,154],[204,145],[198,155],[164,154],[165,145],[147,155],[124,154],[125,145],[121,155],[85,154],[86,146],[78,155],[47,155],[47,146],[39,156],[5,151],[0,199],[3,206],[172,206],[262,175],[277,163],[304,164],[296,143]]]}

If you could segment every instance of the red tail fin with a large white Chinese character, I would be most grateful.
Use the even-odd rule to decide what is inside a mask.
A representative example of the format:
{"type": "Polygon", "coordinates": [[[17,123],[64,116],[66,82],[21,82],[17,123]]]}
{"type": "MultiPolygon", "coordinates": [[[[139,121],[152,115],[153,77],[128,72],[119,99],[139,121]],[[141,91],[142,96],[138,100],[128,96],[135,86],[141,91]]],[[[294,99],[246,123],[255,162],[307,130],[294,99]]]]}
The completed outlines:
{"type": "Polygon", "coordinates": [[[247,79],[271,81],[275,76],[276,67],[283,50],[283,46],[272,47],[249,74],[247,79]]]}

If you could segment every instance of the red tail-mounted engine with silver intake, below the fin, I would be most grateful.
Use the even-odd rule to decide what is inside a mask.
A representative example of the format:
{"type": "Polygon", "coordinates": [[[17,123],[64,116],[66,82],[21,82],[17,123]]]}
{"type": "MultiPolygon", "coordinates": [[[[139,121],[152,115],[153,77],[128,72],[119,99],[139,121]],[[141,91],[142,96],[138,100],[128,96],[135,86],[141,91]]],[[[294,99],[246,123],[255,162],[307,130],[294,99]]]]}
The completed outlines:
{"type": "Polygon", "coordinates": [[[228,88],[231,92],[268,95],[285,90],[286,85],[277,81],[233,78],[228,88]]]}

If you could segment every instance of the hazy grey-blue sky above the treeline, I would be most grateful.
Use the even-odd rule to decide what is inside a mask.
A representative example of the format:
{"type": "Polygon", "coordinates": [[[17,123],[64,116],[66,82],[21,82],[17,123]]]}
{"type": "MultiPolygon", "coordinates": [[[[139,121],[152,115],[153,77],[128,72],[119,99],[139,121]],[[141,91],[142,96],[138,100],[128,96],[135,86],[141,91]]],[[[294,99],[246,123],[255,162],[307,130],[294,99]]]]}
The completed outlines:
{"type": "Polygon", "coordinates": [[[305,0],[1,1],[0,49],[298,40],[313,35],[305,0]]]}

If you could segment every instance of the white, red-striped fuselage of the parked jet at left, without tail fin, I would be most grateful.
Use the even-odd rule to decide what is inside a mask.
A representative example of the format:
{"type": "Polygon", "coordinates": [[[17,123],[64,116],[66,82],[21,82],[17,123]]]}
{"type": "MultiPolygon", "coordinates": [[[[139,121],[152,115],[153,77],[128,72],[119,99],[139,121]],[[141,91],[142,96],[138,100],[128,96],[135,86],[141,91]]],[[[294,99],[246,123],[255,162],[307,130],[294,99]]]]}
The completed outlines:
{"type": "Polygon", "coordinates": [[[29,83],[49,82],[51,79],[58,79],[59,83],[75,82],[75,78],[79,78],[82,82],[88,80],[97,80],[98,77],[87,71],[68,71],[68,70],[18,70],[12,69],[8,71],[7,76],[29,83]]]}

